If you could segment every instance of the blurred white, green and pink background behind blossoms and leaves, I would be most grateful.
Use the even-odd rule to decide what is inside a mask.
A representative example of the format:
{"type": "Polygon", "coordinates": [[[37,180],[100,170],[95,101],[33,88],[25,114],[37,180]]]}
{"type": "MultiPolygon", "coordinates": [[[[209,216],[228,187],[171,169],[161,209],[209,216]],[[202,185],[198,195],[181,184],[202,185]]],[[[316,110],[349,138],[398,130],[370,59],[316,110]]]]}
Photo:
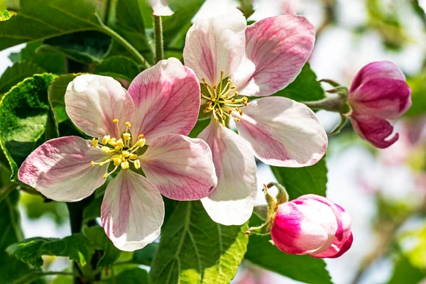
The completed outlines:
{"type": "MultiPolygon", "coordinates": [[[[207,0],[197,16],[240,5],[207,0]]],[[[426,0],[258,0],[253,6],[249,20],[296,11],[315,25],[310,64],[319,80],[349,87],[361,67],[378,60],[391,60],[405,72],[413,107],[396,124],[398,142],[377,150],[350,125],[330,138],[327,197],[351,214],[354,244],[341,258],[325,261],[337,284],[426,283],[426,0]]],[[[9,55],[24,47],[0,52],[0,74],[11,66],[9,55]]],[[[339,123],[339,114],[317,115],[327,131],[339,123]]],[[[262,184],[273,181],[271,169],[258,164],[258,204],[265,204],[262,184]]],[[[71,234],[63,203],[21,192],[20,210],[26,238],[71,234]]],[[[45,258],[52,270],[67,265],[67,258],[45,258]]],[[[234,283],[297,282],[244,263],[234,283]]]]}

